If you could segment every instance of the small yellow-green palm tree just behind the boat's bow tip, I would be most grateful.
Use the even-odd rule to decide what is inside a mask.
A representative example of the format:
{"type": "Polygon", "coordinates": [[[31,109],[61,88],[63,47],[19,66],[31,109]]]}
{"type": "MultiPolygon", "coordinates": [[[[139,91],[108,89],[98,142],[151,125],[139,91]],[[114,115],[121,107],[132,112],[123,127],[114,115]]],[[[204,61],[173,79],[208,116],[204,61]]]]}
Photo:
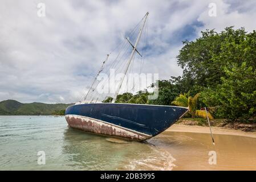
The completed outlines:
{"type": "MultiPolygon", "coordinates": [[[[200,93],[197,93],[194,97],[189,96],[188,93],[180,94],[180,96],[176,97],[172,104],[181,107],[188,107],[189,113],[194,117],[206,118],[205,110],[197,110],[197,100],[200,97],[200,93]]],[[[208,112],[209,119],[213,119],[212,114],[208,112]]]]}

